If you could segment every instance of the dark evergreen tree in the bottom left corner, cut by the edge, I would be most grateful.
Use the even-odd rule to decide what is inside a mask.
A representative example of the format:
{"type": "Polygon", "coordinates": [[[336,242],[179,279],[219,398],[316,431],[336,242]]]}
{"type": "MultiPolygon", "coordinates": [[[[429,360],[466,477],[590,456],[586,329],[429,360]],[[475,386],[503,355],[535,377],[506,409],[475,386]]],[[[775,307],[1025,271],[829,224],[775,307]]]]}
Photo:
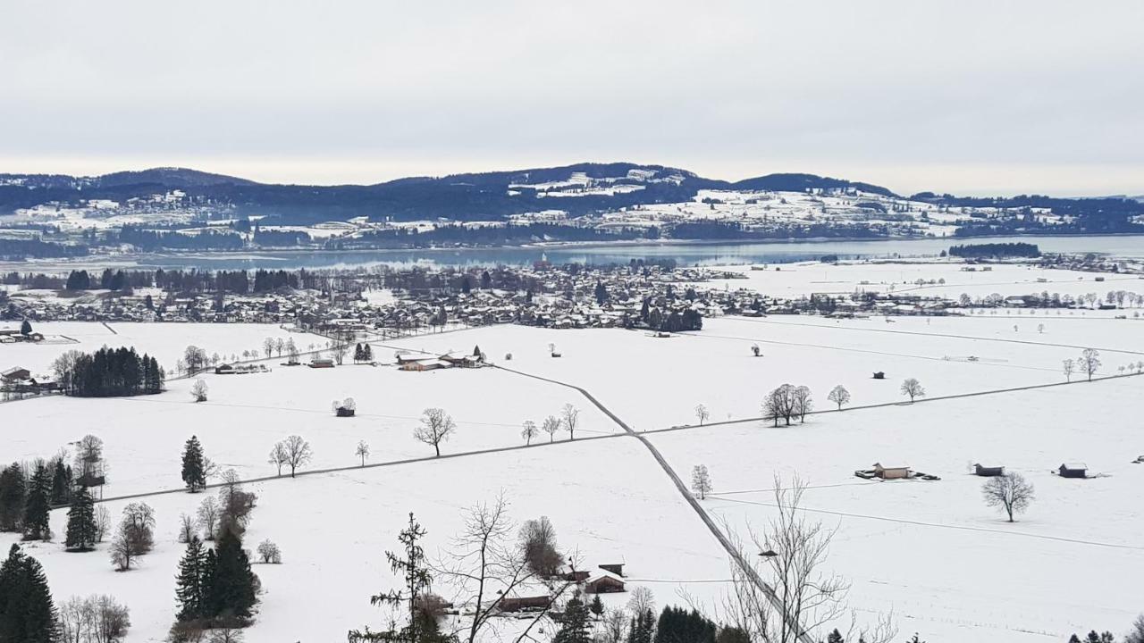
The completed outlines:
{"type": "Polygon", "coordinates": [[[0,565],[0,642],[56,643],[56,608],[43,567],[13,545],[0,565]]]}

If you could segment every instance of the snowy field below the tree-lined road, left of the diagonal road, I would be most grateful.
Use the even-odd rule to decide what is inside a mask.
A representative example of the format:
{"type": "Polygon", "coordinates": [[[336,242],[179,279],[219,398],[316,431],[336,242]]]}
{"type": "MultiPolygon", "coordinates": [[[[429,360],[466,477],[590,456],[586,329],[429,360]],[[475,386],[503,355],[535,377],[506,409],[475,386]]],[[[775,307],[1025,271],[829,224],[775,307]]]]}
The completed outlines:
{"type": "MultiPolygon", "coordinates": [[[[350,628],[384,626],[389,612],[371,606],[370,596],[399,582],[384,550],[399,547],[408,513],[428,530],[426,553],[436,557],[461,530],[463,513],[500,493],[517,522],[548,516],[561,546],[578,550],[585,565],[626,562],[627,573],[652,580],[726,578],[714,537],[643,446],[631,438],[602,442],[609,446],[570,443],[249,485],[259,506],[245,542],[253,548],[269,538],[284,561],[254,565],[264,594],[246,643],[327,643],[344,641],[350,628]]],[[[148,499],[158,522],[156,549],[126,573],[112,571],[105,546],[88,554],[65,553],[58,542],[25,548],[43,564],[57,600],[114,595],[132,610],[127,643],[162,641],[175,618],[175,571],[184,549],[176,541],[178,515],[192,514],[201,500],[186,493],[148,499]]],[[[109,509],[118,516],[124,505],[110,502],[109,509]]],[[[63,533],[64,526],[64,513],[55,511],[53,529],[63,533]]],[[[6,549],[11,541],[13,534],[0,534],[6,549]]],[[[649,586],[660,604],[680,587],[649,586]]],[[[450,595],[445,586],[435,590],[450,595]]]]}

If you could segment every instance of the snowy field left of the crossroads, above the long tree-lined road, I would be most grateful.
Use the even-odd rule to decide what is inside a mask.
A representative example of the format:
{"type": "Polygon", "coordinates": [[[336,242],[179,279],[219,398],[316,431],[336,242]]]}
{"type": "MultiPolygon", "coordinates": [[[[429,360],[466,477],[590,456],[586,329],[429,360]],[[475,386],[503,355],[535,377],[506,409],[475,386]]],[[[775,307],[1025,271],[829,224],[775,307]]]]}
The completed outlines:
{"type": "MultiPolygon", "coordinates": [[[[309,468],[350,467],[358,440],[370,444],[368,462],[427,458],[434,448],[413,438],[422,411],[440,407],[456,422],[442,453],[523,444],[521,424],[558,415],[564,404],[580,408],[577,437],[618,428],[574,390],[494,368],[411,373],[394,367],[276,367],[270,373],[202,376],[208,400],[194,403],[191,380],[164,394],[133,398],[46,397],[0,404],[0,424],[25,423],[37,431],[5,438],[3,461],[50,457],[86,434],[101,437],[110,465],[106,497],[178,489],[183,443],[197,435],[206,455],[244,478],[276,474],[267,462],[273,443],[301,435],[313,447],[309,468]],[[336,418],[332,403],[352,397],[353,418],[336,418]],[[113,419],[113,420],[112,420],[113,419]]],[[[567,439],[561,431],[556,439],[567,439]]],[[[548,442],[541,434],[535,442],[548,442]]]]}

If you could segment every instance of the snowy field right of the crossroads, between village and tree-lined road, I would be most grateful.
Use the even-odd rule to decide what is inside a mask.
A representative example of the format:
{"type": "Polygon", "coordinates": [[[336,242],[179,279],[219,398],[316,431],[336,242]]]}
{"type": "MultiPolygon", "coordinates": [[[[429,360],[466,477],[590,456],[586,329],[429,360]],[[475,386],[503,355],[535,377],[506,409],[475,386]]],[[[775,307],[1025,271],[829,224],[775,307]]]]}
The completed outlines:
{"type": "MultiPolygon", "coordinates": [[[[763,396],[785,382],[810,387],[819,407],[840,383],[855,404],[865,405],[903,400],[899,386],[906,378],[919,379],[930,396],[1057,382],[1064,379],[1062,362],[1078,357],[1080,347],[1106,349],[1111,368],[1144,359],[1141,352],[1113,351],[1144,351],[1142,331],[1138,319],[931,317],[887,324],[882,318],[772,316],[707,319],[701,332],[669,339],[623,330],[517,326],[478,328],[464,336],[505,367],[587,388],[645,430],[693,423],[700,403],[712,421],[758,416],[763,396]],[[1039,323],[1043,333],[1036,331],[1039,323]],[[562,357],[548,356],[549,343],[562,357]],[[754,343],[763,357],[752,356],[754,343]],[[513,354],[510,362],[503,360],[506,352],[513,354]],[[885,380],[872,379],[874,371],[884,372],[885,380]]],[[[402,343],[445,350],[456,336],[402,343]]]]}

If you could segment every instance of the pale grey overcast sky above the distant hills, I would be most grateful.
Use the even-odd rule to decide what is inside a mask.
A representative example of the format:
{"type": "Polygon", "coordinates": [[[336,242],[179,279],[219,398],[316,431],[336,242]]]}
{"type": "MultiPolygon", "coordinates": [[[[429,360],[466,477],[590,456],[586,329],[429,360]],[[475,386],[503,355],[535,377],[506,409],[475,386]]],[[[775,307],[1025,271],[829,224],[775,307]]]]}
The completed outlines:
{"type": "Polygon", "coordinates": [[[0,172],[1144,193],[1144,2],[3,0],[0,172]]]}

